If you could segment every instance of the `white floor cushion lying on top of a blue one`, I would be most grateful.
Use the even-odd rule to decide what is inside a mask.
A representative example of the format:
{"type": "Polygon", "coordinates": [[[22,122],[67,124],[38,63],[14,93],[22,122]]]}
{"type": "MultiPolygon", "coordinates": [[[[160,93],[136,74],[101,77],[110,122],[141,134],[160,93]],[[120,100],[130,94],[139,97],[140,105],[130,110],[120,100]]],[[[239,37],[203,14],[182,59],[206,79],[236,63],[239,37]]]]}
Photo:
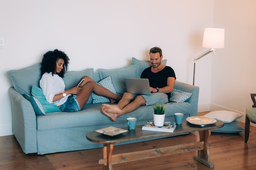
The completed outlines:
{"type": "Polygon", "coordinates": [[[243,115],[234,111],[219,110],[219,111],[211,111],[205,114],[204,116],[208,116],[208,117],[220,120],[224,123],[231,123],[241,118],[243,115]]]}

